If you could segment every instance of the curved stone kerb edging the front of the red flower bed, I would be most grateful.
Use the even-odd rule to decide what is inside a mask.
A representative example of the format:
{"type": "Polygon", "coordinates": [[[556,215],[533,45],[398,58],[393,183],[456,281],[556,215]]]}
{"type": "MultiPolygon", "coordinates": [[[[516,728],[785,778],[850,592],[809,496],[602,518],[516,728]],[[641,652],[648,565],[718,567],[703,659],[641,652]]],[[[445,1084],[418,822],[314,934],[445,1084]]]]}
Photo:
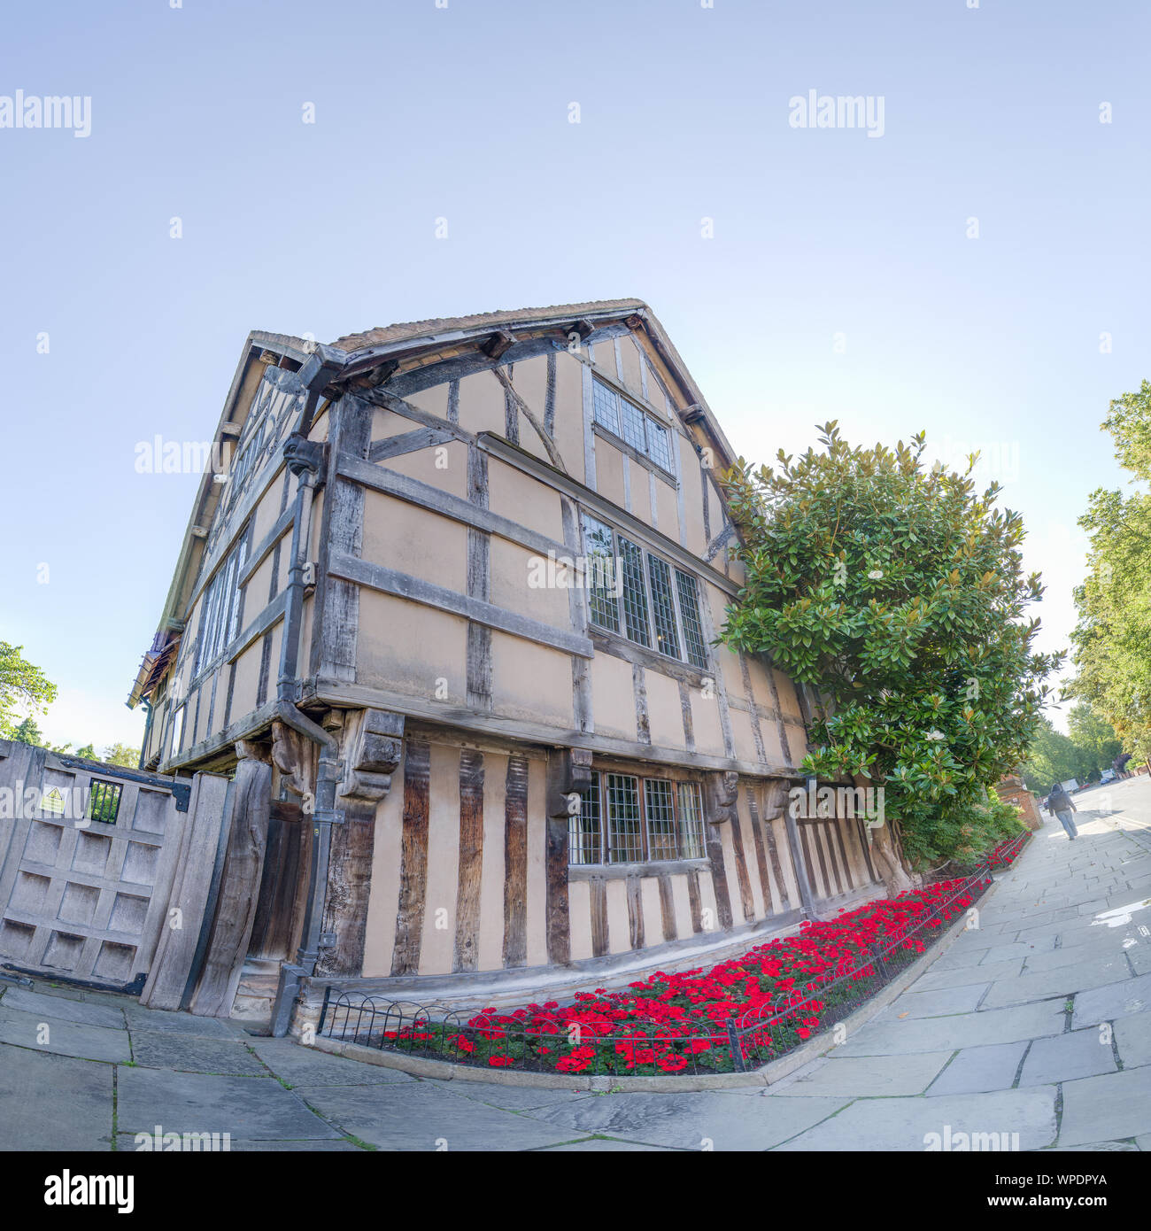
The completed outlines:
{"type": "MultiPolygon", "coordinates": [[[[992,876],[991,884],[980,899],[980,907],[995,894],[998,880],[992,876]]],[[[929,953],[924,953],[916,959],[906,970],[901,971],[886,986],[881,987],[867,1003],[860,1004],[846,1018],[842,1024],[848,1033],[864,1025],[880,1009],[884,1009],[897,996],[902,995],[934,961],[943,956],[952,947],[955,938],[965,931],[966,920],[963,915],[939,937],[929,953]]],[[[297,1041],[299,1041],[297,1039],[297,1041]]],[[[630,1092],[661,1092],[666,1094],[683,1093],[687,1091],[715,1091],[715,1089],[746,1089],[748,1087],[767,1087],[782,1081],[796,1069],[826,1055],[832,1048],[838,1046],[835,1041],[833,1030],[824,1030],[814,1039],[800,1044],[785,1056],[771,1060],[758,1069],[742,1073],[668,1073],[664,1077],[628,1077],[619,1073],[600,1073],[592,1077],[567,1073],[533,1073],[517,1072],[511,1069],[480,1069],[476,1065],[457,1065],[447,1060],[428,1060],[423,1056],[407,1055],[401,1051],[382,1051],[377,1048],[364,1046],[362,1043],[347,1043],[342,1039],[327,1039],[316,1035],[315,1041],[308,1044],[319,1051],[327,1051],[337,1056],[346,1056],[348,1060],[361,1060],[369,1065],[379,1065],[383,1069],[396,1069],[412,1077],[435,1078],[437,1081],[474,1081],[496,1082],[506,1086],[528,1086],[540,1089],[571,1089],[590,1091],[593,1093],[630,1093],[630,1092]]]]}

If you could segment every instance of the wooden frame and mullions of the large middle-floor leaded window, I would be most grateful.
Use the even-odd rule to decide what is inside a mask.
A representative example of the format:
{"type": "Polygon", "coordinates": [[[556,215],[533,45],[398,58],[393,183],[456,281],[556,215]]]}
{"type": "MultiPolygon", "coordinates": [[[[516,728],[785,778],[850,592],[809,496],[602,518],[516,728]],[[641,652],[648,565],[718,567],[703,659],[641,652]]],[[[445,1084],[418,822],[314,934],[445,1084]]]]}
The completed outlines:
{"type": "MultiPolygon", "coordinates": [[[[598,591],[593,590],[591,583],[587,586],[587,616],[591,622],[592,628],[597,632],[603,633],[609,636],[618,636],[628,641],[630,645],[639,646],[641,650],[646,650],[649,654],[655,654],[660,659],[665,659],[668,662],[678,662],[681,666],[688,666],[697,671],[703,671],[707,673],[714,673],[713,671],[713,656],[712,646],[708,644],[704,636],[704,623],[703,623],[703,592],[700,590],[699,579],[681,569],[677,564],[673,564],[666,556],[660,555],[657,551],[650,550],[644,543],[634,538],[630,534],[624,534],[618,531],[609,522],[603,521],[596,513],[590,512],[586,508],[580,511],[580,533],[584,535],[584,558],[590,560],[592,555],[602,555],[602,551],[590,550],[590,534],[588,534],[588,522],[592,522],[597,528],[607,531],[612,537],[611,543],[611,559],[614,561],[612,565],[613,576],[618,572],[622,575],[622,593],[619,596],[607,595],[606,598],[598,595],[598,591]],[[632,617],[636,614],[635,612],[629,612],[628,601],[628,581],[629,572],[624,566],[624,550],[620,548],[620,540],[628,544],[629,548],[634,548],[639,551],[639,574],[643,581],[643,598],[644,598],[644,616],[646,619],[646,633],[648,640],[641,641],[638,638],[632,636],[629,624],[632,617]],[[667,570],[667,601],[671,604],[672,620],[675,623],[676,634],[676,654],[667,654],[665,650],[660,649],[660,634],[656,625],[656,598],[652,587],[652,569],[651,561],[659,561],[659,565],[667,570]],[[694,586],[696,593],[696,611],[692,613],[694,623],[698,627],[698,640],[702,645],[702,655],[696,655],[696,648],[691,644],[692,639],[687,634],[687,624],[683,618],[683,595],[681,592],[680,579],[684,577],[694,586]],[[611,624],[601,623],[596,617],[598,612],[597,603],[603,606],[607,602],[616,616],[616,627],[611,624]],[[697,657],[700,661],[697,661],[697,657]]],[[[634,606],[634,604],[633,604],[634,606]]]]}

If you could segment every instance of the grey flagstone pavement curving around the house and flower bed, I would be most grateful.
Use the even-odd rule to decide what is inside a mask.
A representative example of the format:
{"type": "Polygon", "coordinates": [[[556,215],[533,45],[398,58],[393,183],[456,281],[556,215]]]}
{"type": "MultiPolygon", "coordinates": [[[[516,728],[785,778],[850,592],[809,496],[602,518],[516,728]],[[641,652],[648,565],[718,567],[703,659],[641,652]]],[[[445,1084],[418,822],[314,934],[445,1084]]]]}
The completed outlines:
{"type": "Polygon", "coordinates": [[[1151,1150],[1151,783],[1077,801],[1078,841],[1051,820],[977,929],[767,1091],[415,1078],[38,981],[0,996],[0,1149],[132,1151],[159,1126],[277,1151],[1151,1150]]]}

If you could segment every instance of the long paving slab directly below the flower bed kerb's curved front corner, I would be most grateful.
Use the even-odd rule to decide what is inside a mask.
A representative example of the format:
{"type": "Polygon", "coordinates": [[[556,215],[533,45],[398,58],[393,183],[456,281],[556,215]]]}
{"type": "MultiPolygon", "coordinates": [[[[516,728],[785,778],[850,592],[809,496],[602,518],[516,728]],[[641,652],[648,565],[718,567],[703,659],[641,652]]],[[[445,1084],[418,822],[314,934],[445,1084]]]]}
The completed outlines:
{"type": "Polygon", "coordinates": [[[723,1093],[606,1094],[534,1112],[567,1133],[681,1150],[768,1150],[847,1105],[846,1098],[737,1098],[723,1093]]]}

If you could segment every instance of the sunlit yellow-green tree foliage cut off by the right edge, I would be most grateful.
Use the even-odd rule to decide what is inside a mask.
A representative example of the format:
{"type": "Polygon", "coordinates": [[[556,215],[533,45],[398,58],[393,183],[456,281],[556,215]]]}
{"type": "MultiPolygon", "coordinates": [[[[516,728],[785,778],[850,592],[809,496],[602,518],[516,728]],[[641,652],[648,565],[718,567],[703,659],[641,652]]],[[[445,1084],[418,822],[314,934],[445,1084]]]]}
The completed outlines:
{"type": "MultiPolygon", "coordinates": [[[[1151,384],[1110,404],[1104,428],[1135,480],[1151,478],[1151,384]]],[[[1069,692],[1091,703],[1140,761],[1151,758],[1151,495],[1102,487],[1080,526],[1088,532],[1087,576],[1075,590],[1071,634],[1076,678],[1069,692]]]]}

